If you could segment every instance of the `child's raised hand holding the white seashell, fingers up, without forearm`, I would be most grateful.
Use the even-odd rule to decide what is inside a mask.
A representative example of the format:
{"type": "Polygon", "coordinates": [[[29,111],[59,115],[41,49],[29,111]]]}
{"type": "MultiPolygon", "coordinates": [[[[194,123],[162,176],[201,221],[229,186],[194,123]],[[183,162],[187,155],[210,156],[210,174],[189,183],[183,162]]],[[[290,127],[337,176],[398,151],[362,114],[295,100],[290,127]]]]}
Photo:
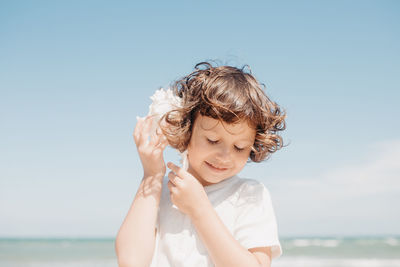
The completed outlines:
{"type": "Polygon", "coordinates": [[[133,133],[136,148],[143,166],[144,177],[165,175],[165,162],[163,152],[168,145],[165,136],[158,132],[150,137],[152,117],[138,119],[133,133]]]}

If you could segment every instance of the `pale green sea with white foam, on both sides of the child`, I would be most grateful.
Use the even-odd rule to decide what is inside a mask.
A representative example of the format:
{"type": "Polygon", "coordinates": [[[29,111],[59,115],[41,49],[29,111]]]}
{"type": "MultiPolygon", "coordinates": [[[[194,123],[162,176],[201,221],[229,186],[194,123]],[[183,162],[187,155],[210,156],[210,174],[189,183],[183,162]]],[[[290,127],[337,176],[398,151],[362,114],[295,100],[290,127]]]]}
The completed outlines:
{"type": "MultiPolygon", "coordinates": [[[[400,237],[284,238],[274,267],[400,267],[400,237]]],[[[118,266],[113,239],[0,239],[0,267],[118,266]]]]}

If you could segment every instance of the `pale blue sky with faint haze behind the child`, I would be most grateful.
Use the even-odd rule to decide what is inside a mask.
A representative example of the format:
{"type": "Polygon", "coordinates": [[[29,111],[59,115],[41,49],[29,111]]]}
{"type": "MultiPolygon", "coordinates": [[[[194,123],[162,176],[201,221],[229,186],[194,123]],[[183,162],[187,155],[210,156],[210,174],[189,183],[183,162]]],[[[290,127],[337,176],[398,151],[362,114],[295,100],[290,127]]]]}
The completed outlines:
{"type": "MultiPolygon", "coordinates": [[[[287,147],[243,177],[281,236],[400,234],[398,1],[1,1],[0,236],[113,237],[132,132],[200,61],[250,65],[287,147]]],[[[177,153],[166,159],[177,161],[177,153]]]]}

